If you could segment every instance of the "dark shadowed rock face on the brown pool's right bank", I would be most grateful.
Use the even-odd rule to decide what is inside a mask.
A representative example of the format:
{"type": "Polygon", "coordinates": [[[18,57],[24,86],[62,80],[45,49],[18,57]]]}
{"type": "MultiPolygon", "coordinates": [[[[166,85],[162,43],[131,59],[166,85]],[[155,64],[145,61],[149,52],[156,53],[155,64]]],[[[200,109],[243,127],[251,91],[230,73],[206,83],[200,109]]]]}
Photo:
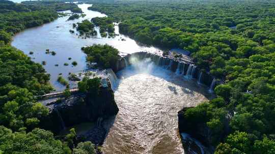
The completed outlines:
{"type": "MultiPolygon", "coordinates": [[[[218,142],[223,141],[224,138],[226,137],[226,135],[230,132],[229,122],[230,122],[230,119],[232,118],[232,113],[228,113],[228,115],[226,117],[226,121],[224,123],[224,130],[221,134],[217,135],[217,134],[214,134],[214,132],[212,132],[212,130],[207,126],[207,124],[205,122],[192,123],[192,122],[190,122],[190,120],[187,120],[184,117],[184,112],[188,108],[192,108],[192,107],[184,107],[182,110],[180,110],[178,112],[179,132],[180,133],[187,133],[192,138],[195,138],[198,141],[200,141],[205,147],[207,147],[206,149],[203,149],[205,153],[213,153],[213,151],[214,151],[214,146],[213,146],[214,140],[218,140],[218,142]],[[214,138],[214,135],[219,136],[219,137],[214,138]]],[[[189,141],[187,141],[187,140],[184,141],[184,139],[183,139],[183,143],[187,143],[187,142],[189,142],[189,141]]],[[[185,149],[188,148],[188,147],[186,147],[186,145],[184,147],[185,147],[185,149]]]]}

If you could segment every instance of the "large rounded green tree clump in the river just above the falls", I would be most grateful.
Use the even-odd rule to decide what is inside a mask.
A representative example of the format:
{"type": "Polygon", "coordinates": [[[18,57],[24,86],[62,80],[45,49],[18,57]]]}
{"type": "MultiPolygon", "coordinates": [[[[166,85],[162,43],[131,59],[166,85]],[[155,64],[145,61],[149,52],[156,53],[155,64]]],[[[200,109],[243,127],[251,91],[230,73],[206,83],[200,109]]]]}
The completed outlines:
{"type": "Polygon", "coordinates": [[[93,45],[81,49],[87,54],[87,62],[96,62],[103,68],[114,67],[118,61],[119,51],[109,45],[93,45]]]}

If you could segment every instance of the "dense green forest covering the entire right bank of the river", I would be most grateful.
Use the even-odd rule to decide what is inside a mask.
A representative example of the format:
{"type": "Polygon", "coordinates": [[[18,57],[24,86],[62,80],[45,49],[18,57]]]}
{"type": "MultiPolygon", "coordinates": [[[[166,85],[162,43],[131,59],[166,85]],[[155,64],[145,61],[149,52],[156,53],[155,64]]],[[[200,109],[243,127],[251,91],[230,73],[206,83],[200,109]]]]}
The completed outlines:
{"type": "Polygon", "coordinates": [[[274,153],[275,1],[92,1],[90,10],[120,21],[120,32],[190,51],[224,85],[217,98],[188,109],[189,123],[214,132],[215,153],[274,153]],[[228,115],[230,134],[221,138],[228,115]]]}

